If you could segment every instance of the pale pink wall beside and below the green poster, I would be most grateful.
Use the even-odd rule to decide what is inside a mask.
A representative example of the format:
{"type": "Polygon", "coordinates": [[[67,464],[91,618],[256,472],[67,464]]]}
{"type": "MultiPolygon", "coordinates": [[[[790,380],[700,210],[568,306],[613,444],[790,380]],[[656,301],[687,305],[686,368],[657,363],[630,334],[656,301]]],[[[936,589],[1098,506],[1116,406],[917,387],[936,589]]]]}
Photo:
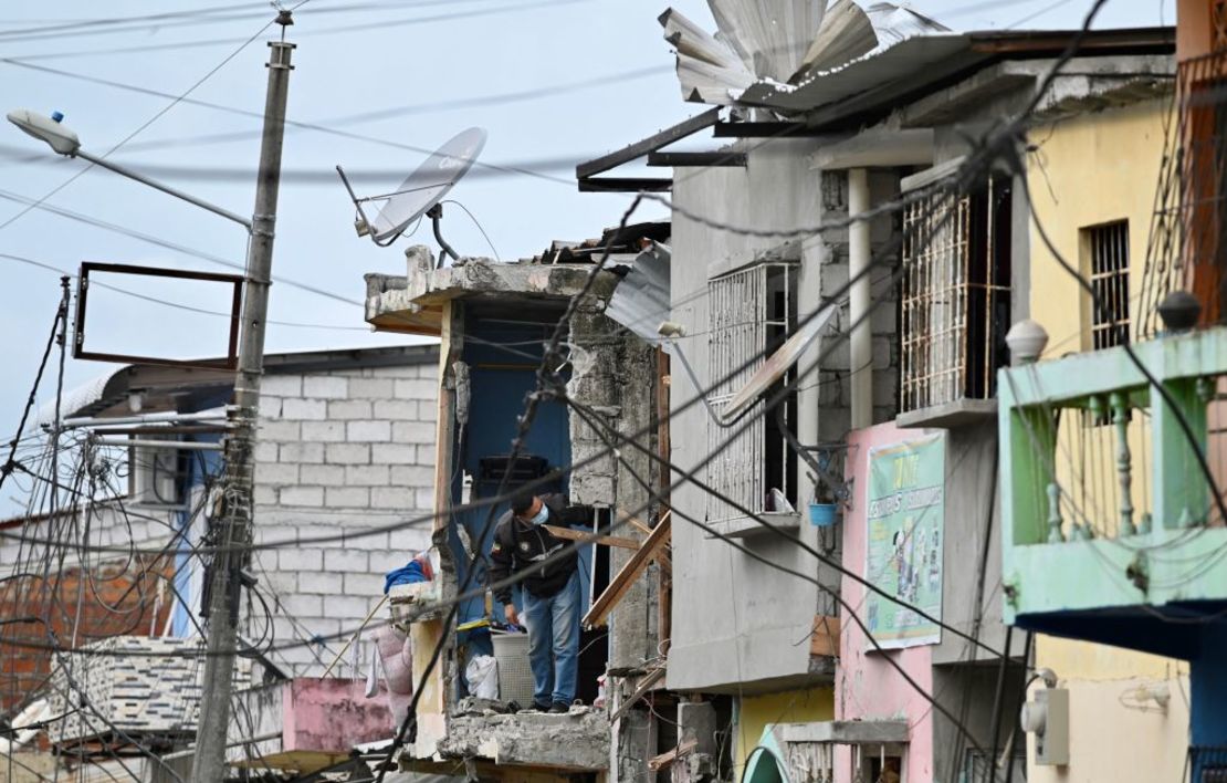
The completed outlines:
{"type": "MultiPolygon", "coordinates": [[[[854,480],[853,507],[844,511],[843,566],[864,576],[865,573],[865,508],[869,497],[869,450],[915,439],[923,433],[917,430],[899,430],[893,423],[858,430],[848,437],[845,474],[854,480]]],[[[865,593],[863,585],[844,577],[843,599],[856,615],[864,619],[865,593]]],[[[910,647],[902,650],[879,653],[861,632],[848,610],[839,616],[839,670],[836,676],[837,720],[902,720],[910,727],[910,745],[904,766],[908,783],[931,781],[933,723],[929,702],[899,675],[886,658],[890,657],[908,673],[917,685],[933,692],[933,657],[930,647],[910,647]],[[866,652],[867,650],[867,652],[866,652]]],[[[866,761],[867,765],[867,761],[866,761]]],[[[848,746],[836,750],[836,783],[850,783],[853,777],[853,751],[848,746]]]]}

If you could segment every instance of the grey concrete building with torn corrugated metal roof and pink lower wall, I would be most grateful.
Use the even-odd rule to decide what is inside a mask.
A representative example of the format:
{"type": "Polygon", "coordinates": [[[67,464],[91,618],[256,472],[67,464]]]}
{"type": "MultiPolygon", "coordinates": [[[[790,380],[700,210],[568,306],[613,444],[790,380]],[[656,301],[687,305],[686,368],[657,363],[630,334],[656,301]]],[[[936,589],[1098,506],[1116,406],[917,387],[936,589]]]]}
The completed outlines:
{"type": "MultiPolygon", "coordinates": [[[[671,459],[697,481],[670,497],[666,686],[723,708],[712,772],[726,779],[1042,776],[1064,762],[1037,756],[1042,736],[1015,717],[1037,649],[1054,641],[1012,632],[995,587],[1009,582],[996,374],[1011,362],[1011,326],[1047,312],[1053,290],[1033,272],[1052,261],[1037,248],[1028,194],[1054,187],[1049,136],[1090,133],[1117,148],[1161,122],[1174,32],[1091,33],[1049,80],[1071,32],[952,33],[906,10],[870,12],[876,45],[780,86],[724,47],[740,33],[739,54],[769,50],[755,38],[764,27],[746,22],[753,11],[713,5],[729,11],[718,15],[719,40],[674,11],[661,23],[683,96],[718,107],[577,171],[582,189],[671,191],[671,459]],[[665,148],[708,129],[717,144],[734,140],[665,148]],[[643,157],[672,176],[602,177],[643,157]],[[863,214],[872,217],[848,225],[863,214]],[[785,344],[807,329],[807,342],[785,344]],[[764,367],[771,383],[756,387],[764,367]],[[764,401],[739,430],[730,423],[747,390],[764,401]],[[775,409],[764,416],[767,403],[775,409]],[[891,511],[894,497],[909,513],[891,511]]],[[[834,4],[822,23],[855,15],[849,5],[834,4]]],[[[775,68],[787,79],[805,64],[775,68]]],[[[1160,139],[1141,139],[1161,155],[1160,139]]],[[[1115,206],[1088,196],[1086,182],[1136,177],[1145,198],[1120,205],[1121,216],[1145,226],[1153,176],[1142,158],[1088,148],[1099,150],[1061,158],[1081,184],[1053,199],[1115,206]]],[[[1082,222],[1115,220],[1092,220],[1104,209],[1082,222]]],[[[1134,727],[1128,706],[1096,703],[1134,727]]],[[[676,719],[685,733],[683,713],[676,719]]],[[[1151,729],[1187,724],[1173,709],[1151,729]]],[[[1129,779],[1167,776],[1179,752],[1129,779]]],[[[1086,746],[1080,768],[1115,770],[1109,756],[1086,746]]]]}

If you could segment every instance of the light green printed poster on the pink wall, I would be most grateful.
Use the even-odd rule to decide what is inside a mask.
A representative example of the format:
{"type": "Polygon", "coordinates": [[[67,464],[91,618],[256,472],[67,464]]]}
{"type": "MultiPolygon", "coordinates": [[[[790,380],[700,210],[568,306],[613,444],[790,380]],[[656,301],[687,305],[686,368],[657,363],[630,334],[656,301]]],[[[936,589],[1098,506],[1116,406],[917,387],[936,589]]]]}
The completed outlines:
{"type": "Polygon", "coordinates": [[[941,641],[941,628],[912,606],[941,620],[945,476],[941,434],[869,452],[865,577],[908,605],[866,592],[863,617],[883,648],[941,641]]]}

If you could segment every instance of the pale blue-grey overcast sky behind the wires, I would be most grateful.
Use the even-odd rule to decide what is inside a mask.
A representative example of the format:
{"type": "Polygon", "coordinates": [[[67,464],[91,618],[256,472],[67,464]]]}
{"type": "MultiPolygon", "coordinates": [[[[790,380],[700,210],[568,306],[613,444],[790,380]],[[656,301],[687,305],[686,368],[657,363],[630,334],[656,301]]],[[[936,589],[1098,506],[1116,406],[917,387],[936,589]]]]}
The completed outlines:
{"type": "MultiPolygon", "coordinates": [[[[955,29],[1076,27],[1090,0],[915,0],[912,7],[955,29]]],[[[665,1],[643,0],[309,0],[287,38],[298,44],[290,88],[291,119],[363,136],[290,129],[281,189],[267,350],[291,351],[404,342],[366,330],[357,304],[294,288],[287,281],[361,301],[364,272],[402,274],[407,244],[358,239],[352,207],[335,177],[344,164],[360,189],[387,191],[455,133],[490,133],[486,163],[539,177],[477,168],[452,198],[485,227],[503,259],[530,255],[553,239],[598,236],[626,207],[622,195],[580,194],[574,164],[611,151],[701,110],[681,101],[672,54],[656,16],[665,1]],[[558,182],[562,180],[562,182],[558,182]]],[[[714,31],[704,0],[674,7],[714,31]]],[[[157,171],[171,184],[232,211],[249,214],[259,152],[256,117],[264,107],[265,2],[150,2],[61,0],[5,4],[0,10],[0,109],[64,112],[82,146],[102,153],[166,110],[217,69],[190,97],[233,109],[179,103],[110,157],[157,171]],[[99,20],[211,9],[209,15],[158,26],[99,20]],[[25,16],[23,16],[25,15],[25,16]],[[87,23],[97,22],[97,23],[87,23]],[[47,28],[38,29],[34,28],[47,28]],[[15,34],[13,31],[28,31],[15,34]],[[229,58],[225,65],[223,60],[229,58]],[[26,66],[12,63],[20,60],[26,66]],[[53,69],[34,70],[34,69],[53,69]],[[139,90],[99,83],[102,80],[139,90]]],[[[1139,27],[1174,20],[1172,0],[1109,0],[1099,27],[1139,27]]],[[[83,168],[59,160],[7,123],[0,128],[0,225],[23,207],[9,196],[39,199],[83,168]]],[[[245,233],[215,215],[109,172],[90,171],[47,199],[61,210],[240,263],[245,233]]],[[[659,216],[644,209],[643,216],[659,216]]],[[[445,207],[445,237],[463,254],[492,250],[470,218],[445,207]]],[[[431,242],[428,242],[431,243],[431,242]]],[[[0,253],[75,271],[82,260],[228,271],[198,255],[88,226],[40,210],[0,228],[0,253]]],[[[0,431],[16,427],[59,298],[54,271],[0,258],[0,431]]],[[[125,284],[130,288],[136,286],[125,284]]],[[[164,302],[221,309],[225,296],[205,287],[141,288],[164,302]]],[[[98,293],[87,345],[123,352],[212,355],[223,345],[225,318],[98,293]]],[[[118,366],[74,362],[74,388],[118,366]]],[[[54,392],[44,379],[39,401],[54,392]]],[[[7,514],[11,487],[0,498],[7,514]]]]}

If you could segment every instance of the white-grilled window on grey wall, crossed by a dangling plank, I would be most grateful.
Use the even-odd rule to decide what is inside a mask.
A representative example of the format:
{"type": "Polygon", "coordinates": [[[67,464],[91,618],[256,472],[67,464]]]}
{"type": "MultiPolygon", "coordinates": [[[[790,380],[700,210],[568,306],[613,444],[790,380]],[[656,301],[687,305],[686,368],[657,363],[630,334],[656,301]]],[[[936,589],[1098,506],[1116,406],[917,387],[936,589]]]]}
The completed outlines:
{"type": "MultiPolygon", "coordinates": [[[[796,325],[796,270],[791,261],[763,261],[708,282],[708,379],[712,407],[720,412],[740,392],[766,357],[796,325]]],[[[789,371],[774,389],[791,382],[789,371]]],[[[769,399],[772,392],[763,395],[769,399]]],[[[796,395],[780,404],[785,425],[795,427],[796,395]]],[[[796,506],[793,474],[796,455],[780,433],[775,411],[764,414],[762,400],[746,414],[752,423],[731,441],[737,427],[708,422],[708,484],[755,512],[768,507],[767,495],[778,488],[796,506]]],[[[742,517],[734,507],[708,496],[708,520],[742,517]]]]}

